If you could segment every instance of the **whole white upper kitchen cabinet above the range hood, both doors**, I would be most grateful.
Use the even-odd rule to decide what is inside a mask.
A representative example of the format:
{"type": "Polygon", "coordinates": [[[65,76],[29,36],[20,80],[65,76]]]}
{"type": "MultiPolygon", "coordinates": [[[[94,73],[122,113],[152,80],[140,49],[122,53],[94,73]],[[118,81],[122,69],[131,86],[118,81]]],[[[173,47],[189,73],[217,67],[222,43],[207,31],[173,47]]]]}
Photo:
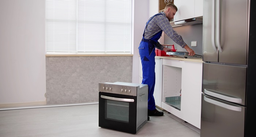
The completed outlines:
{"type": "Polygon", "coordinates": [[[175,0],[178,8],[174,21],[203,16],[203,0],[175,0]]]}

